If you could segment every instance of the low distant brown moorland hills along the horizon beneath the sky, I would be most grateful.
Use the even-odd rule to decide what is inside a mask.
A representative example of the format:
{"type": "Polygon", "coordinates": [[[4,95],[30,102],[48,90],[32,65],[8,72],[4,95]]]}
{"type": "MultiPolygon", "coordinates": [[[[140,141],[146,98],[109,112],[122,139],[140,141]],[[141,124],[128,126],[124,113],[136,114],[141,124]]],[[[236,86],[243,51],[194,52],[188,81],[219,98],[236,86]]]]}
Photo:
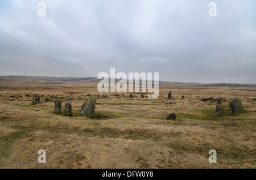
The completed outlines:
{"type": "MultiPolygon", "coordinates": [[[[65,83],[65,82],[80,82],[80,83],[99,83],[96,77],[76,78],[76,77],[49,77],[49,76],[0,76],[0,83],[65,83]]],[[[115,80],[118,82],[119,80],[115,80]]],[[[164,82],[159,81],[159,87],[175,87],[175,88],[250,88],[249,91],[256,91],[256,84],[201,84],[201,83],[182,83],[182,82],[164,82]]]]}

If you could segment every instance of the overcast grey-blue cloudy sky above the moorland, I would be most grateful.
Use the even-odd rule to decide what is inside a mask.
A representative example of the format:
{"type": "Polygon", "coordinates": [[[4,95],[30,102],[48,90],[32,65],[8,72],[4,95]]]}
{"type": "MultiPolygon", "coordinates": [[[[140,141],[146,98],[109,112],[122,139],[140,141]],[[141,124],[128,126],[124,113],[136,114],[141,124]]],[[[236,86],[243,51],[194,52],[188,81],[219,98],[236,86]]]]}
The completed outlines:
{"type": "Polygon", "coordinates": [[[255,0],[0,1],[0,76],[256,83],[255,0]],[[38,3],[46,4],[39,16],[38,3]],[[209,3],[217,16],[209,16],[209,3]]]}

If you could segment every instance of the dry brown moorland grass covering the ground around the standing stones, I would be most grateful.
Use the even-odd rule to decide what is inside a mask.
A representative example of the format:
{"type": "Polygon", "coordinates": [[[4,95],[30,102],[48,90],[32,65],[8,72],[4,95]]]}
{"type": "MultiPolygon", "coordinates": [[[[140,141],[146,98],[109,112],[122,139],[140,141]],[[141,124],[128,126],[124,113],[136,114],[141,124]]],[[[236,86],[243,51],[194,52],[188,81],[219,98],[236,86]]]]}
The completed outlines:
{"type": "Polygon", "coordinates": [[[153,100],[108,93],[112,98],[97,99],[100,119],[79,117],[85,101],[79,98],[97,95],[96,88],[83,81],[1,82],[0,168],[255,168],[255,91],[164,84],[153,100]],[[169,90],[175,100],[167,100],[169,90]],[[75,117],[54,114],[54,102],[31,105],[36,94],[42,101],[73,97],[75,117]],[[223,98],[223,116],[214,117],[214,103],[200,101],[210,96],[223,98]],[[233,97],[242,101],[237,115],[228,110],[233,97]],[[177,121],[165,120],[171,112],[177,121]],[[38,163],[39,149],[47,152],[46,164],[38,163]],[[208,162],[210,149],[217,151],[217,164],[208,162]]]}

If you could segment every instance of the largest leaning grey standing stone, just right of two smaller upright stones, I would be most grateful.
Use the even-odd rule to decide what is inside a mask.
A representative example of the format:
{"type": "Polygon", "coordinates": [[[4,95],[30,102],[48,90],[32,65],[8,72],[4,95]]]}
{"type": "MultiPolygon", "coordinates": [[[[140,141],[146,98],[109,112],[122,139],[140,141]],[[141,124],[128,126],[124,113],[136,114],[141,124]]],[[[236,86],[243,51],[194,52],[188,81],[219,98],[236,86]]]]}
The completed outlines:
{"type": "Polygon", "coordinates": [[[96,96],[90,95],[84,104],[81,106],[81,116],[94,118],[95,117],[95,106],[96,106],[96,96]]]}

